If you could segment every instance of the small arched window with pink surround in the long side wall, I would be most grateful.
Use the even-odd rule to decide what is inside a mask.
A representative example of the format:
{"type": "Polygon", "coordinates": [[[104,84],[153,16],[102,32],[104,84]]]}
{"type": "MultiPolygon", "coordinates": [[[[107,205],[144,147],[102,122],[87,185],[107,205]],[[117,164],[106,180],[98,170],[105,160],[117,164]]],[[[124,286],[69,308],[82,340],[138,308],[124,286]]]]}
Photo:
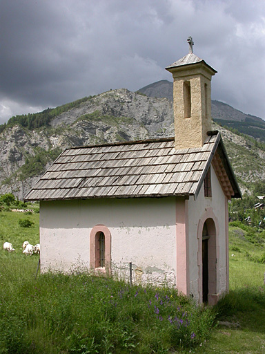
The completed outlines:
{"type": "Polygon", "coordinates": [[[105,225],[96,225],[90,232],[90,268],[109,272],[111,265],[111,235],[105,225]]]}

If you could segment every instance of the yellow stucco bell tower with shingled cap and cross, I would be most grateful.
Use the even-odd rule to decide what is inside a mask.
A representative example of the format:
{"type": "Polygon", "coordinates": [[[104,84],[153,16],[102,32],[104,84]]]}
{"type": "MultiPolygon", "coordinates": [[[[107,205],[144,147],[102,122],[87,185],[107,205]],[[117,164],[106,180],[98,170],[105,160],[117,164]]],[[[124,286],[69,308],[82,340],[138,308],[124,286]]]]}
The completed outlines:
{"type": "Polygon", "coordinates": [[[191,37],[188,44],[188,55],[166,67],[174,78],[176,149],[202,147],[211,129],[210,80],[217,71],[193,54],[191,37]]]}

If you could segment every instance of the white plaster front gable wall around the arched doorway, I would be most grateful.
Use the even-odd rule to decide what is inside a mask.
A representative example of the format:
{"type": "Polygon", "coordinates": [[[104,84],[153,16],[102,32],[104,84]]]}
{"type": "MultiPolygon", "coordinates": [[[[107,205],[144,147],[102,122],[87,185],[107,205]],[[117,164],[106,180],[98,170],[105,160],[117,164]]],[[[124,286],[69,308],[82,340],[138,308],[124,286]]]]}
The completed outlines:
{"type": "Polygon", "coordinates": [[[197,228],[199,219],[206,212],[207,207],[213,207],[213,212],[218,219],[219,235],[217,235],[217,293],[226,291],[226,197],[221,185],[211,166],[212,197],[204,197],[204,185],[199,192],[196,201],[194,198],[188,200],[188,238],[189,238],[189,270],[190,270],[190,294],[197,299],[199,290],[199,267],[197,251],[199,242],[197,239],[197,228]],[[218,281],[219,279],[219,281],[218,281]]]}

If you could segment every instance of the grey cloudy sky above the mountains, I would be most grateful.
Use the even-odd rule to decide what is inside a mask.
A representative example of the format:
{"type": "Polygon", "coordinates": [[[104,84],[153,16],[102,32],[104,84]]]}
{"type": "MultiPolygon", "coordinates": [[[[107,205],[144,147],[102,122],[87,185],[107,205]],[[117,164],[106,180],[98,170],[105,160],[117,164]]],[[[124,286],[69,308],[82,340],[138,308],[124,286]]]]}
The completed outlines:
{"type": "Polygon", "coordinates": [[[264,0],[0,0],[0,124],[159,80],[194,53],[212,98],[265,119],[264,0]]]}

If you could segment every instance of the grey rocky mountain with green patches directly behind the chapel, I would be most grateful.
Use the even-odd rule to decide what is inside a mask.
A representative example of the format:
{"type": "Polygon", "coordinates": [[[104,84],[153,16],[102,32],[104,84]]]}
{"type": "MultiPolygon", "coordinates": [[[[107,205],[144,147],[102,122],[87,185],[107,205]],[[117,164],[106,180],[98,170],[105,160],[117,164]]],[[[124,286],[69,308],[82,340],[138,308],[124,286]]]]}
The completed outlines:
{"type": "MultiPolygon", "coordinates": [[[[59,108],[43,111],[37,118],[18,116],[0,127],[0,194],[12,192],[23,198],[66,147],[174,134],[171,100],[124,88],[59,108]],[[33,119],[34,124],[38,123],[37,128],[32,128],[33,119]]],[[[255,140],[216,125],[213,128],[222,131],[228,156],[243,188],[252,181],[265,179],[265,151],[255,140]]]]}

